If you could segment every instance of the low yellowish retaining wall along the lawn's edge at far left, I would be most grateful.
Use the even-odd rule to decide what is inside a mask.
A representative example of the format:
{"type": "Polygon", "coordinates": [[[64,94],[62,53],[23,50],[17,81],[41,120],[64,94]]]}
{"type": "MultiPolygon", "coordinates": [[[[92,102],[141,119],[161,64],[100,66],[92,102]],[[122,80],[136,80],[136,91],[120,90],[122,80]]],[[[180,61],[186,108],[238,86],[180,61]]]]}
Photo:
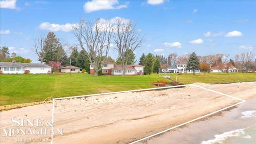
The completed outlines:
{"type": "Polygon", "coordinates": [[[52,99],[53,99],[52,97],[48,97],[44,101],[29,102],[29,103],[19,103],[19,104],[14,104],[14,105],[0,106],[0,111],[2,111],[2,110],[10,110],[10,109],[15,109],[15,108],[22,108],[22,107],[27,107],[27,106],[40,105],[40,104],[45,104],[45,103],[51,103],[52,99]]]}

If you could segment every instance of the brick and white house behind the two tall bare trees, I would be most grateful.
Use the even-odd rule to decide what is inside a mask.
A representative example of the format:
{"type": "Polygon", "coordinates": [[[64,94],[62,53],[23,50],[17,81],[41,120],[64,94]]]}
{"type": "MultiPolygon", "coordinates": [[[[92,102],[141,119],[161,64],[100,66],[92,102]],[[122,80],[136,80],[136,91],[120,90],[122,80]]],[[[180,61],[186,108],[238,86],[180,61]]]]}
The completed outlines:
{"type": "MultiPolygon", "coordinates": [[[[103,75],[123,75],[122,65],[114,65],[113,62],[105,61],[102,62],[102,74],[103,75]]],[[[144,66],[141,65],[126,65],[125,75],[143,75],[144,66]]],[[[90,65],[90,74],[94,75],[94,69],[90,65]]]]}

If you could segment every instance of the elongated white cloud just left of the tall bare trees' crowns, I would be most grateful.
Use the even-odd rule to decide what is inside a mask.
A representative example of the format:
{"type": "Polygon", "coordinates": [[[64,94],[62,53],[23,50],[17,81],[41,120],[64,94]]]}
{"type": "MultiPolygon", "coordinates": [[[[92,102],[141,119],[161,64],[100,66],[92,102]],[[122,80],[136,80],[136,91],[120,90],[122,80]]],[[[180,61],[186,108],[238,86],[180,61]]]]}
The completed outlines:
{"type": "Polygon", "coordinates": [[[66,23],[65,25],[59,25],[57,23],[43,22],[39,25],[39,29],[51,30],[51,31],[70,31],[72,28],[78,26],[77,23],[66,23]]]}

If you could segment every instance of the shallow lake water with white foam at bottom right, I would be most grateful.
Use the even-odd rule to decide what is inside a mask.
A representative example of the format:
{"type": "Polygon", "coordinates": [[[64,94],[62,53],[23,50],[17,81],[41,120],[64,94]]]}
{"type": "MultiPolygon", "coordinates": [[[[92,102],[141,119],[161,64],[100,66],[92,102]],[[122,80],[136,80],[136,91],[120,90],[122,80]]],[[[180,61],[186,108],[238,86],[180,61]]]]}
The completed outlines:
{"type": "Polygon", "coordinates": [[[220,114],[166,132],[145,143],[255,144],[256,98],[220,114]]]}

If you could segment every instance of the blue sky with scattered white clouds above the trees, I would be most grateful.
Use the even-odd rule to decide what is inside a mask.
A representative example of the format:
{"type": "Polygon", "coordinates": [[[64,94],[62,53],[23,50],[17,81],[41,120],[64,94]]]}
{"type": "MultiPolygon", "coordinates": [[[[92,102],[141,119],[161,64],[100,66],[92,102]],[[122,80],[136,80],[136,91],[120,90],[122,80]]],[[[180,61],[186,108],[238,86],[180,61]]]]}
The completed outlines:
{"type": "MultiPolygon", "coordinates": [[[[256,53],[256,1],[0,1],[0,46],[38,63],[34,39],[54,31],[78,45],[80,19],[131,20],[143,36],[142,53],[197,55],[256,53]]],[[[117,58],[111,47],[110,56],[117,58]]]]}

